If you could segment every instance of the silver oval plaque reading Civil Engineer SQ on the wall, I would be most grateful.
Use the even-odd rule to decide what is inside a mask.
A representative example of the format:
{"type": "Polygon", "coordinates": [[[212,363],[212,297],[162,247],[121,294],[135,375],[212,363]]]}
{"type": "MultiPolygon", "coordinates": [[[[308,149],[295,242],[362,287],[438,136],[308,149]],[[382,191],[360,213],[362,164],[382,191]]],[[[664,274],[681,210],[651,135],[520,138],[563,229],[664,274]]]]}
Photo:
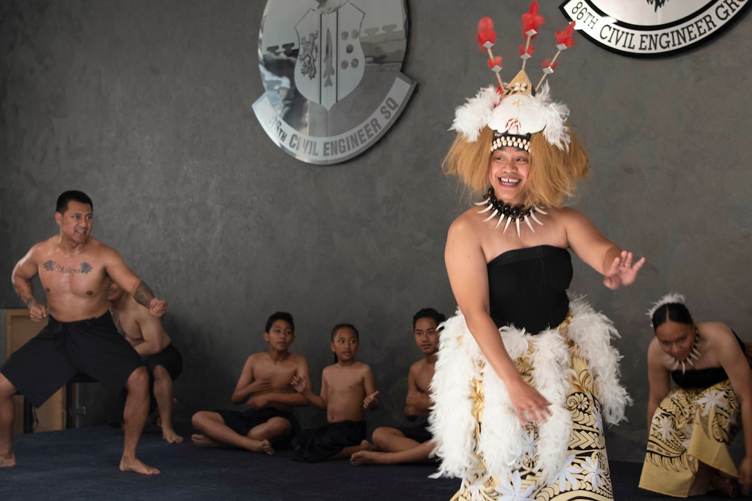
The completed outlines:
{"type": "Polygon", "coordinates": [[[271,141],[331,165],[371,147],[405,109],[405,0],[268,0],[259,32],[265,92],[253,104],[271,141]]]}

